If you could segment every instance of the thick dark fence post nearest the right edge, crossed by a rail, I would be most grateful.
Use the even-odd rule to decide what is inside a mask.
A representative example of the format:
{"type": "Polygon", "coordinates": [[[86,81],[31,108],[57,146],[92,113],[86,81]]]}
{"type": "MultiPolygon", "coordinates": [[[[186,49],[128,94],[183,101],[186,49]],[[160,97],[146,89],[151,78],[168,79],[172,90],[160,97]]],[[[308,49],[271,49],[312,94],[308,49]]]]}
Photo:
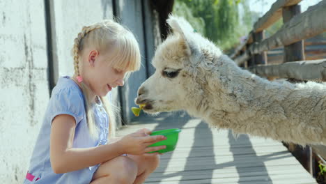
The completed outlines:
{"type": "MultiPolygon", "coordinates": [[[[286,6],[283,8],[283,22],[284,24],[292,17],[301,13],[300,5],[286,6]]],[[[304,40],[297,43],[284,46],[284,63],[288,61],[304,61],[304,40]]]]}

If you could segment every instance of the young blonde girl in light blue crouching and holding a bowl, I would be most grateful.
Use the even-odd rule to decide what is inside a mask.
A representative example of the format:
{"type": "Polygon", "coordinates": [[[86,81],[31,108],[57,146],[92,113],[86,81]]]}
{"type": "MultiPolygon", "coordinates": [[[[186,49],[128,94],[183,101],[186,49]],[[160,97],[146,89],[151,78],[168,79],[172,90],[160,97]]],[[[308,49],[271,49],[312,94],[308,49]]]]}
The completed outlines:
{"type": "Polygon", "coordinates": [[[159,164],[147,129],[107,144],[113,132],[105,95],[139,70],[137,40],[105,20],[84,26],[73,47],[75,75],[52,91],[24,183],[143,183],[159,164]],[[110,136],[109,136],[110,137],[110,136]]]}

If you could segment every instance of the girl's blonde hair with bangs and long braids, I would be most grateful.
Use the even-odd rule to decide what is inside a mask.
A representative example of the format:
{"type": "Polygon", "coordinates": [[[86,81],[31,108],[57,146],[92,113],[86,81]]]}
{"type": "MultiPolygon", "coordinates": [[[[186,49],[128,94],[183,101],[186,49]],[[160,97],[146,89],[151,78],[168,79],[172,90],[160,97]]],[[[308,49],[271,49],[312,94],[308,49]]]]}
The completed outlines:
{"type": "MultiPolygon", "coordinates": [[[[75,45],[72,49],[75,66],[75,77],[79,76],[79,58],[81,53],[88,45],[98,49],[100,53],[106,53],[110,49],[114,52],[110,52],[110,65],[118,70],[130,72],[139,70],[141,66],[141,56],[139,52],[139,45],[134,35],[125,29],[121,24],[114,22],[113,20],[103,20],[91,26],[84,26],[77,38],[75,38],[75,45]]],[[[98,137],[98,126],[95,124],[91,95],[93,92],[89,89],[84,82],[80,82],[81,90],[84,93],[86,99],[86,117],[89,132],[93,138],[98,137]]],[[[100,97],[104,109],[109,115],[109,136],[114,136],[115,125],[114,122],[114,106],[107,102],[106,98],[100,97]]]]}

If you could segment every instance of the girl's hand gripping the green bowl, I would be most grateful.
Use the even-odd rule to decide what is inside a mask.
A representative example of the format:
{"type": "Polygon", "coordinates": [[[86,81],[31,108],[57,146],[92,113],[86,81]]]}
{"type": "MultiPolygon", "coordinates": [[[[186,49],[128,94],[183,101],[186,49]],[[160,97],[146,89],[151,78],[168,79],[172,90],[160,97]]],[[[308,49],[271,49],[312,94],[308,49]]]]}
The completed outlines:
{"type": "MultiPolygon", "coordinates": [[[[121,145],[123,153],[131,155],[142,155],[150,151],[158,151],[166,148],[166,146],[148,147],[150,144],[166,139],[163,135],[150,136],[150,134],[150,130],[143,128],[137,132],[131,133],[130,135],[126,135],[116,143],[121,145]]],[[[147,153],[146,155],[157,154],[158,153],[147,153]]]]}

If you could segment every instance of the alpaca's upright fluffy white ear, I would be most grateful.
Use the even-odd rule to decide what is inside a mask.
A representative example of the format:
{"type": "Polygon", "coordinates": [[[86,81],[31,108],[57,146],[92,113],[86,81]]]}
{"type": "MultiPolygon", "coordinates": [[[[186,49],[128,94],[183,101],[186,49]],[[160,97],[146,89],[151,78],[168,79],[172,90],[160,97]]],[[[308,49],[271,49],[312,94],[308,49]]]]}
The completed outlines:
{"type": "MultiPolygon", "coordinates": [[[[185,40],[185,46],[189,55],[198,56],[199,49],[196,42],[192,40],[194,37],[194,28],[183,17],[175,17],[169,15],[169,19],[166,22],[171,26],[173,33],[179,34],[185,40]]],[[[192,63],[197,63],[197,59],[191,59],[192,63]]]]}

